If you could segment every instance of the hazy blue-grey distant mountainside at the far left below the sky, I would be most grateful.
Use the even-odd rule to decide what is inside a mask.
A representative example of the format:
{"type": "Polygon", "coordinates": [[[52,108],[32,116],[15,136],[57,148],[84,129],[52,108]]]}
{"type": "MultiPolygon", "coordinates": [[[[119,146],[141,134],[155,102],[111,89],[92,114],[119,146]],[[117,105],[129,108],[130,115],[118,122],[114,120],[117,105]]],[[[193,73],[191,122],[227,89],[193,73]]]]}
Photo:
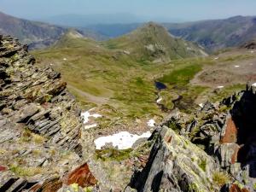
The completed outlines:
{"type": "Polygon", "coordinates": [[[67,29],[31,20],[22,20],[0,12],[0,34],[19,38],[31,49],[54,44],[67,29]]]}

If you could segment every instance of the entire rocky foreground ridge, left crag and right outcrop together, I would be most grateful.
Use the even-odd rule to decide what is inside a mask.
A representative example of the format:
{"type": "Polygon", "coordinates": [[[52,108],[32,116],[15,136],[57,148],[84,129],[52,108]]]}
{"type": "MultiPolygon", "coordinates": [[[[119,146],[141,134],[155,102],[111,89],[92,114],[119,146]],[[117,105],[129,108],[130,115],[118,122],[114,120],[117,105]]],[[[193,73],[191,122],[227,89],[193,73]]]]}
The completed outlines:
{"type": "Polygon", "coordinates": [[[192,113],[172,110],[128,160],[113,163],[127,154],[101,156],[61,74],[34,63],[26,46],[0,36],[0,191],[256,190],[255,84],[192,113]],[[110,166],[119,172],[107,174],[110,166]]]}

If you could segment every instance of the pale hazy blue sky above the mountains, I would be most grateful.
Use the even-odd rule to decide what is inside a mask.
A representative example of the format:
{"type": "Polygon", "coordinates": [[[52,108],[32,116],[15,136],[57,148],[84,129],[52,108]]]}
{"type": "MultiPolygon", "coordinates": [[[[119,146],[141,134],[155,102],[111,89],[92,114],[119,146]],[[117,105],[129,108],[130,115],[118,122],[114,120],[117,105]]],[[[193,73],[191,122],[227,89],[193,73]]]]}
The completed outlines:
{"type": "Polygon", "coordinates": [[[152,20],[206,20],[256,15],[256,0],[0,0],[0,11],[27,19],[125,13],[152,20]]]}

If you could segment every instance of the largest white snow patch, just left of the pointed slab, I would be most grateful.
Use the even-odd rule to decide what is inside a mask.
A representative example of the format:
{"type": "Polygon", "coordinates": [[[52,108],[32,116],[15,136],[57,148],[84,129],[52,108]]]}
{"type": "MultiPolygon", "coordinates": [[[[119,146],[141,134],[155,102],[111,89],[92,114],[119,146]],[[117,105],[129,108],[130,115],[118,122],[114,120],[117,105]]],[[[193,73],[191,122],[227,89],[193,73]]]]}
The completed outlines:
{"type": "Polygon", "coordinates": [[[148,138],[151,136],[150,131],[143,133],[142,135],[134,135],[127,131],[121,131],[119,133],[113,134],[111,136],[99,137],[94,143],[96,145],[96,149],[101,149],[107,143],[112,143],[113,148],[127,149],[131,148],[134,143],[137,142],[140,138],[148,138]]]}

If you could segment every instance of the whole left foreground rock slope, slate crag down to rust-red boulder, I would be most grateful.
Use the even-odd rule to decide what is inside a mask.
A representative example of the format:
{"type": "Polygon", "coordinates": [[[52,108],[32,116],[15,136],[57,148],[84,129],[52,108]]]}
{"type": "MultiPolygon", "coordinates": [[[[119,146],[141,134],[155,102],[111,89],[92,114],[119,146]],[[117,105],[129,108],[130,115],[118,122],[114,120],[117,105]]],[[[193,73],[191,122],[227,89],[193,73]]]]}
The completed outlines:
{"type": "Polygon", "coordinates": [[[0,191],[93,187],[74,97],[60,73],[34,62],[26,46],[0,36],[0,191]]]}

